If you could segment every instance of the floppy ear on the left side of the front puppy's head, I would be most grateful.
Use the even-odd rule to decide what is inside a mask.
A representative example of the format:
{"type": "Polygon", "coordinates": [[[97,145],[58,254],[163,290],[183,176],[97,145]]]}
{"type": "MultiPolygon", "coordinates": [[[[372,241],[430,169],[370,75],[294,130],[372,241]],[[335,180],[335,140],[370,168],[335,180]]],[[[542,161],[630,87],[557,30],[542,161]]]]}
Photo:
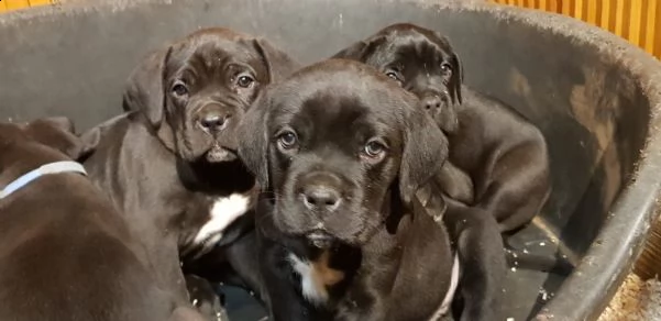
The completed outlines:
{"type": "Polygon", "coordinates": [[[268,189],[268,128],[266,120],[271,103],[264,95],[265,91],[261,92],[236,129],[239,157],[255,176],[263,190],[268,189]]]}

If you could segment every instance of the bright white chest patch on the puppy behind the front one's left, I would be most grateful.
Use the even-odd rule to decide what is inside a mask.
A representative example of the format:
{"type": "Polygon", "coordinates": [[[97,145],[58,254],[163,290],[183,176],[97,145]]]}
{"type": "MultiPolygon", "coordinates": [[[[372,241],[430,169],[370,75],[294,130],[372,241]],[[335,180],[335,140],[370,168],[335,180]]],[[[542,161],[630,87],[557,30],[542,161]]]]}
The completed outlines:
{"type": "Polygon", "coordinates": [[[211,206],[211,219],[197,233],[195,243],[216,243],[222,237],[222,232],[234,220],[247,212],[250,198],[241,193],[232,193],[229,197],[219,198],[211,206]],[[213,237],[213,240],[210,240],[213,237]]]}

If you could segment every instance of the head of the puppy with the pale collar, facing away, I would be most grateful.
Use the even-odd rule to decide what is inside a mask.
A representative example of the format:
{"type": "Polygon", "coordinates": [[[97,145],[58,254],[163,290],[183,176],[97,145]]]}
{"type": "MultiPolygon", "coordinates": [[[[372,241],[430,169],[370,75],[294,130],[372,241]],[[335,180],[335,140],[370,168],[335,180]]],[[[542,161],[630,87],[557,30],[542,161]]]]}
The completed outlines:
{"type": "Polygon", "coordinates": [[[99,136],[82,140],[64,117],[30,123],[0,123],[0,181],[7,184],[21,173],[49,162],[77,160],[91,153],[99,136]]]}

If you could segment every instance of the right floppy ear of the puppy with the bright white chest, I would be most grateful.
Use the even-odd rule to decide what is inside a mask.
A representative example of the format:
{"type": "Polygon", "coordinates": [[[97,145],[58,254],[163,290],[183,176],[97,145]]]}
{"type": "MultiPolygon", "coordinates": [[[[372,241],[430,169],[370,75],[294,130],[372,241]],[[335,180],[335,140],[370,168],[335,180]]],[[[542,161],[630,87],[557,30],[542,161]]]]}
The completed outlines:
{"type": "Polygon", "coordinates": [[[268,41],[255,38],[253,45],[268,70],[268,81],[278,82],[296,71],[300,65],[287,53],[275,47],[268,41]]]}

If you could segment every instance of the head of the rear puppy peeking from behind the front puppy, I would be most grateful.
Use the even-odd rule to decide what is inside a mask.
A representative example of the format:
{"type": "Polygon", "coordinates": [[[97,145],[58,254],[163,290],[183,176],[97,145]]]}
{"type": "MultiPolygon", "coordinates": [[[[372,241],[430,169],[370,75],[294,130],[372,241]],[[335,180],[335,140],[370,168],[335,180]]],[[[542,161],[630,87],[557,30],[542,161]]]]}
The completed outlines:
{"type": "Polygon", "coordinates": [[[334,55],[366,63],[414,92],[421,107],[448,133],[456,131],[462,103],[462,65],[440,33],[414,24],[394,24],[334,55]]]}

